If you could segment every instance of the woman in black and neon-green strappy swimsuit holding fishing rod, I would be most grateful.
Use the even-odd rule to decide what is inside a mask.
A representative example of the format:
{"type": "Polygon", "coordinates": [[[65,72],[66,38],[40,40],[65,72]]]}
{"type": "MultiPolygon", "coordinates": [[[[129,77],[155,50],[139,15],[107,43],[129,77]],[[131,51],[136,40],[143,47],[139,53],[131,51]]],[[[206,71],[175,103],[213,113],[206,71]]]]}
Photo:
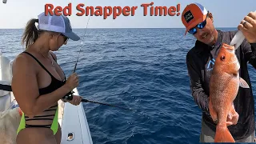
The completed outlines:
{"type": "MultiPolygon", "coordinates": [[[[22,36],[26,50],[18,54],[13,63],[12,90],[23,112],[17,131],[18,144],[61,142],[58,100],[72,94],[70,91],[78,86],[78,75],[71,74],[66,80],[51,51],[66,45],[69,38],[80,39],[72,31],[69,18],[63,15],[42,13],[26,25],[22,36]]],[[[72,100],[66,101],[77,106],[81,100],[80,96],[73,96],[72,100]]]]}

